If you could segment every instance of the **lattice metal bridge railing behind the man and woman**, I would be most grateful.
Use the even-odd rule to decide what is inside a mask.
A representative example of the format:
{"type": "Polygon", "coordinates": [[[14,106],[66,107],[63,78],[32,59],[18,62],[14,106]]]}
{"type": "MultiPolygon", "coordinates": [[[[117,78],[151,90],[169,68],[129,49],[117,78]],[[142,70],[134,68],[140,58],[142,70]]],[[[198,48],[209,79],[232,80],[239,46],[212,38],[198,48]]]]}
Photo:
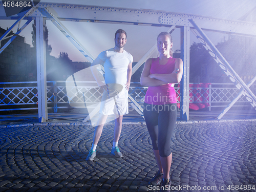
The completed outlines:
{"type": "MultiPolygon", "coordinates": [[[[231,102],[238,95],[238,90],[232,83],[190,83],[189,104],[202,105],[208,107],[209,111],[213,108],[222,108],[231,102]]],[[[255,93],[256,86],[252,84],[250,89],[255,93]]],[[[132,82],[129,94],[142,104],[147,87],[140,86],[139,82],[132,82]]],[[[178,103],[180,102],[180,87],[175,84],[178,103]]],[[[77,108],[84,107],[86,103],[100,102],[99,87],[92,83],[88,87],[73,87],[68,91],[72,92],[72,98],[68,98],[65,81],[47,81],[47,103],[48,109],[70,108],[70,102],[77,108]],[[77,94],[83,93],[83,94],[77,94]]],[[[244,96],[233,106],[250,106],[244,96]]],[[[13,110],[36,110],[37,109],[37,82],[0,82],[0,111],[13,110]]],[[[193,109],[191,107],[191,109],[193,109]]]]}

